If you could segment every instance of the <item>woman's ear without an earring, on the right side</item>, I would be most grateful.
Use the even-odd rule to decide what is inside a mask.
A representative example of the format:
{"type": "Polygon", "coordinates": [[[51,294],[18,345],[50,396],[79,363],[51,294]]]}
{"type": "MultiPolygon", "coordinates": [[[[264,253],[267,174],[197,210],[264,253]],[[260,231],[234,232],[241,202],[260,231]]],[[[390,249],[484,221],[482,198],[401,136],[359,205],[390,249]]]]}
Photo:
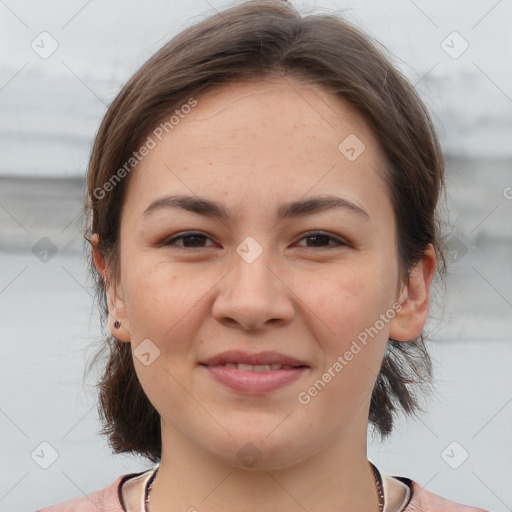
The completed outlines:
{"type": "Polygon", "coordinates": [[[436,252],[428,244],[423,257],[409,272],[409,279],[402,284],[398,302],[401,309],[390,322],[389,337],[410,341],[421,334],[428,316],[430,285],[436,272],[436,252]]]}

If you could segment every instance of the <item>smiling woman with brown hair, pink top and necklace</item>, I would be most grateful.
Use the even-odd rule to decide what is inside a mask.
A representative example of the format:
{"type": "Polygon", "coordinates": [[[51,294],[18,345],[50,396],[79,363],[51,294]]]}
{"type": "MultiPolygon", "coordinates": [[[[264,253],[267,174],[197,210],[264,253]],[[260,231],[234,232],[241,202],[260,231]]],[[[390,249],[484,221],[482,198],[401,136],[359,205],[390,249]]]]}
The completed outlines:
{"type": "Polygon", "coordinates": [[[431,366],[444,161],[356,28],[246,2],[110,106],[88,171],[117,453],[158,465],[42,509],[473,511],[367,459],[431,366]]]}

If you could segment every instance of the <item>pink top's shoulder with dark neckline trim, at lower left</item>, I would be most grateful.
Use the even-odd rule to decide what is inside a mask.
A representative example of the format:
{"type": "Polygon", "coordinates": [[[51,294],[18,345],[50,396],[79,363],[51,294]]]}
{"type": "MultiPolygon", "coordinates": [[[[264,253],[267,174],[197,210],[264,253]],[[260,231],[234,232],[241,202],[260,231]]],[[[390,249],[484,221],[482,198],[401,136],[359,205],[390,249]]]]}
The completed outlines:
{"type": "Polygon", "coordinates": [[[104,489],[57,505],[39,509],[36,512],[124,512],[119,499],[120,485],[128,478],[138,474],[139,473],[130,473],[121,475],[104,489]]]}

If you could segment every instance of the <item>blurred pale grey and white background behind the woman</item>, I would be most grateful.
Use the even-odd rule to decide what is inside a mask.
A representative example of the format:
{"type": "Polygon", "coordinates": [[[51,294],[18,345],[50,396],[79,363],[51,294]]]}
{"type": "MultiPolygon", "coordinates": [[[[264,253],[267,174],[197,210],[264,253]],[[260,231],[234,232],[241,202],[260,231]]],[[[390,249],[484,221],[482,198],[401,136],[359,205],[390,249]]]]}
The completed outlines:
{"type": "MultiPolygon", "coordinates": [[[[238,3],[238,2],[235,2],[238,3]]],[[[447,158],[450,272],[428,325],[436,385],[369,457],[489,511],[512,510],[512,2],[292,1],[393,54],[447,158]]],[[[86,362],[100,343],[80,233],[107,106],[175,33],[233,3],[0,0],[0,511],[36,510],[151,465],[114,456],[86,362]]]]}

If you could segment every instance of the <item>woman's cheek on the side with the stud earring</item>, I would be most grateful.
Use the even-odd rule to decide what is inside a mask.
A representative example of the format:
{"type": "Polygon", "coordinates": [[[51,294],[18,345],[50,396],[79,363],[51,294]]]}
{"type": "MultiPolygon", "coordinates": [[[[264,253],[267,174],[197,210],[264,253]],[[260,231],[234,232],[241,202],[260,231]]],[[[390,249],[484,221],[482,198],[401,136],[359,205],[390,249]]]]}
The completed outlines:
{"type": "Polygon", "coordinates": [[[193,331],[199,318],[207,314],[207,304],[200,299],[212,284],[205,283],[200,273],[192,276],[169,264],[146,264],[142,258],[134,259],[126,271],[133,345],[149,339],[158,348],[158,356],[147,366],[134,354],[135,371],[146,396],[164,417],[179,418],[190,408],[200,415],[200,407],[190,401],[186,390],[192,389],[193,331]]]}

